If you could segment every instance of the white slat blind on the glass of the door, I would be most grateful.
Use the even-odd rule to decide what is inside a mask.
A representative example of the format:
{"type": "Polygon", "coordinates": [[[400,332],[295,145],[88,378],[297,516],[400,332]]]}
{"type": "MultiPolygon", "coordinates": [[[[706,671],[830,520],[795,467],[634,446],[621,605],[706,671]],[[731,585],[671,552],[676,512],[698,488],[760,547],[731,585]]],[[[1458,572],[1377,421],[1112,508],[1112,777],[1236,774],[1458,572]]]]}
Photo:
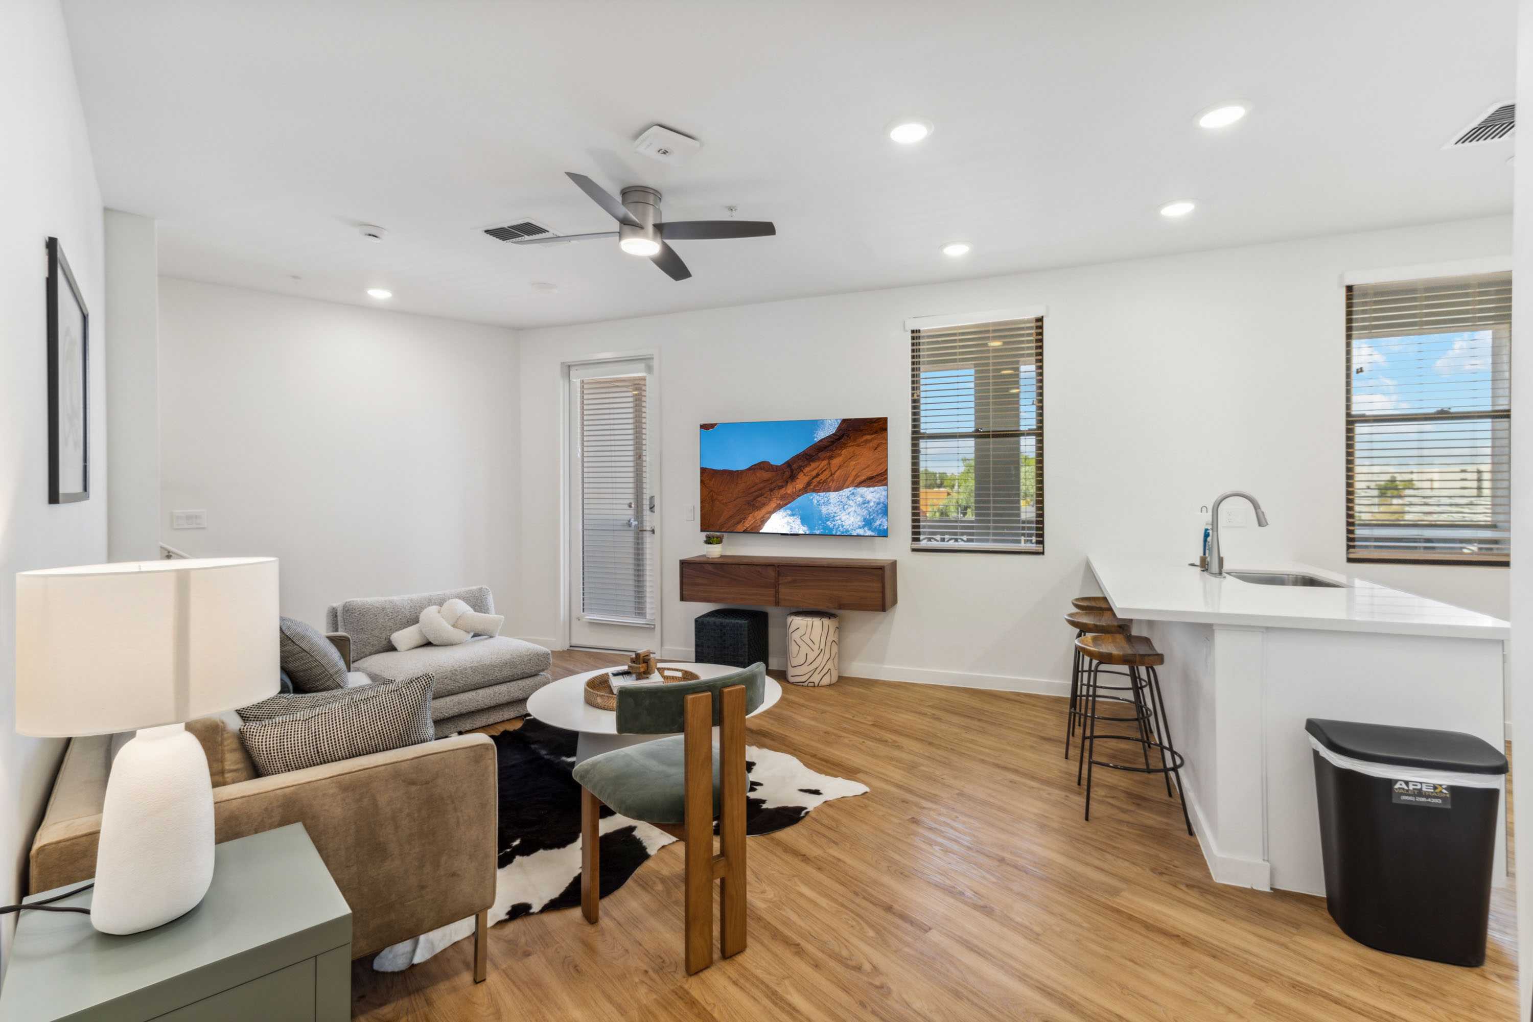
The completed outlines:
{"type": "Polygon", "coordinates": [[[581,610],[655,624],[645,377],[579,383],[581,610]]]}

